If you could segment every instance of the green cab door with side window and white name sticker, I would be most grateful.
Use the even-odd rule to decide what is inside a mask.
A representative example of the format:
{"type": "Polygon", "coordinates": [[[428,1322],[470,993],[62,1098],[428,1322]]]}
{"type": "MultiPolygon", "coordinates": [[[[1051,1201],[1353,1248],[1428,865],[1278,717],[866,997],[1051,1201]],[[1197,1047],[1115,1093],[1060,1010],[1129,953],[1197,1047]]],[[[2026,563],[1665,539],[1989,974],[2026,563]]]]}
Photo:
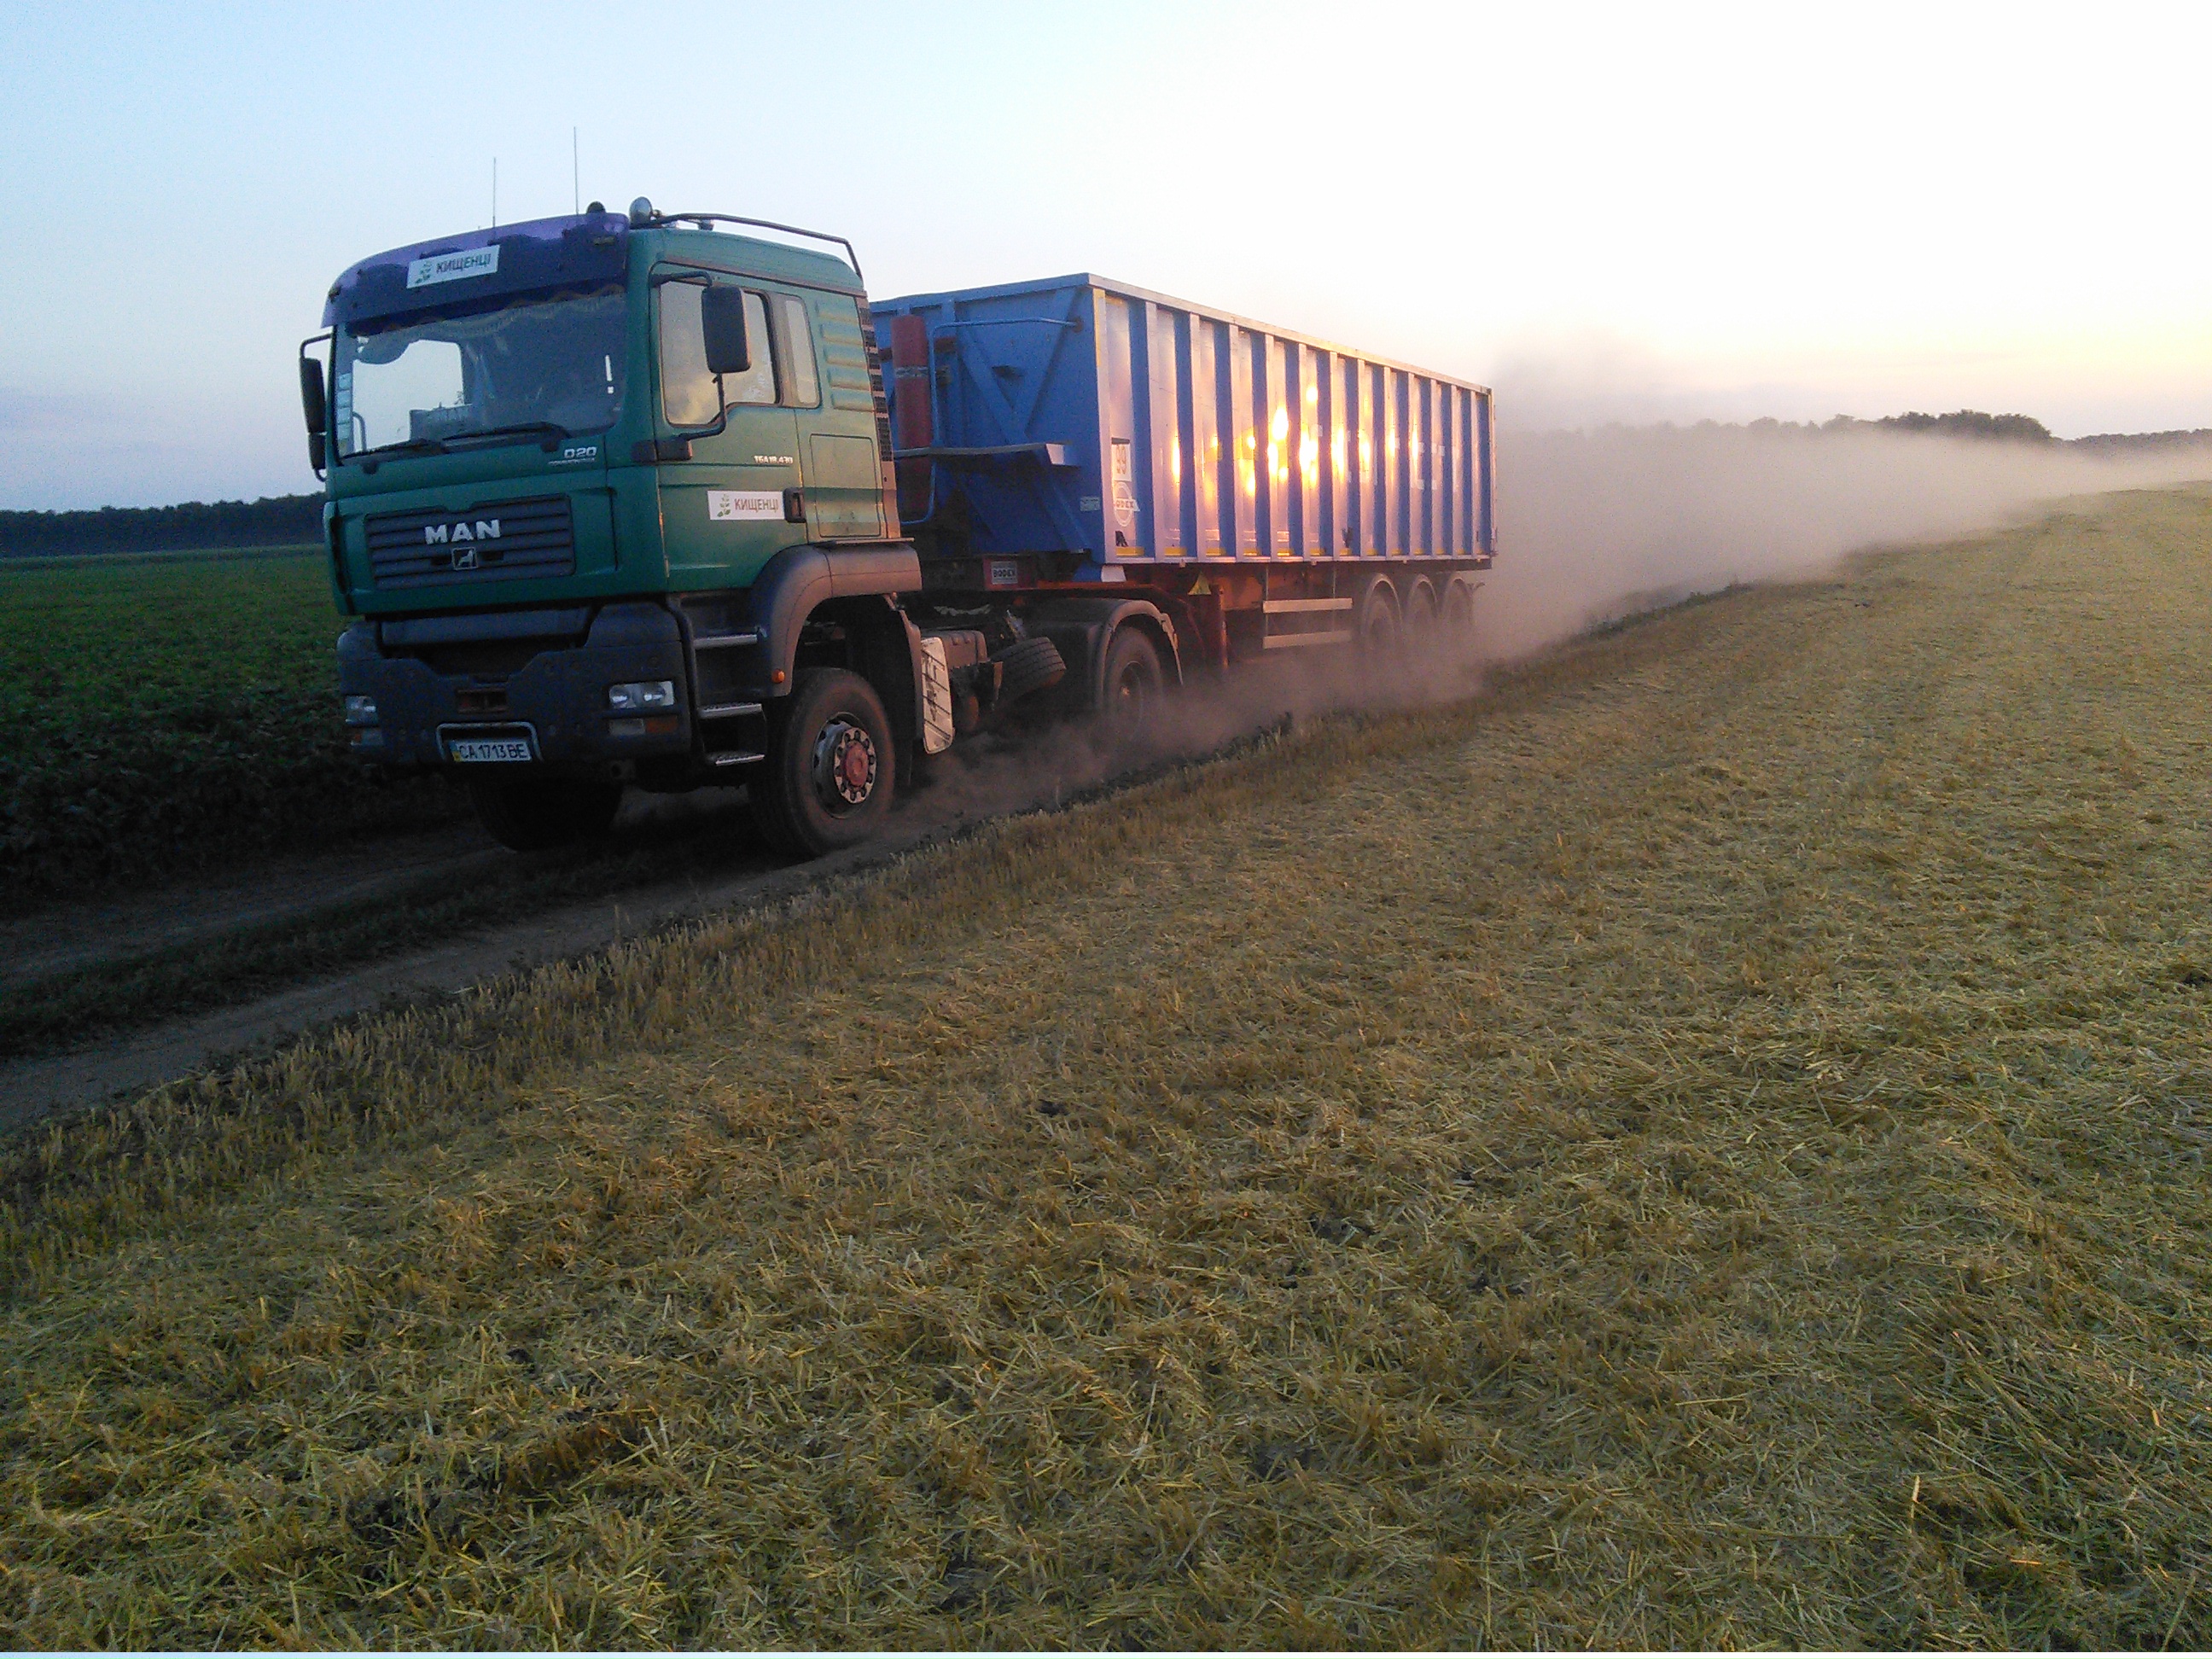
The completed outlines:
{"type": "Polygon", "coordinates": [[[752,367],[721,376],[717,398],[699,325],[706,272],[661,270],[655,281],[661,418],[672,438],[692,447],[688,462],[659,469],[668,575],[677,586],[745,586],[779,549],[805,540],[805,526],[785,515],[785,491],[801,482],[799,442],[783,398],[792,374],[774,349],[770,294],[745,285],[752,367]],[[721,431],[701,431],[723,416],[721,431]]]}

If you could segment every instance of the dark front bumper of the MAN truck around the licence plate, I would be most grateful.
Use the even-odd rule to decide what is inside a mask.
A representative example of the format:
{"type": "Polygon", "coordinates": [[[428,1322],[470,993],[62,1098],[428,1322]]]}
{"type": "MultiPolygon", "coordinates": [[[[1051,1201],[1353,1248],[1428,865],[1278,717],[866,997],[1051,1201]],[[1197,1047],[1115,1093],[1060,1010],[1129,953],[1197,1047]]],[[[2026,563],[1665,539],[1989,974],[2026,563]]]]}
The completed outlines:
{"type": "Polygon", "coordinates": [[[538,772],[624,776],[639,761],[690,757],[677,619],[626,602],[599,606],[582,639],[577,622],[577,613],[540,611],[352,624],[338,637],[338,690],[376,699],[376,723],[347,728],[354,757],[405,772],[447,768],[460,765],[456,739],[515,734],[529,737],[538,772]],[[626,721],[608,710],[606,688],[630,679],[672,681],[672,719],[626,721]]]}

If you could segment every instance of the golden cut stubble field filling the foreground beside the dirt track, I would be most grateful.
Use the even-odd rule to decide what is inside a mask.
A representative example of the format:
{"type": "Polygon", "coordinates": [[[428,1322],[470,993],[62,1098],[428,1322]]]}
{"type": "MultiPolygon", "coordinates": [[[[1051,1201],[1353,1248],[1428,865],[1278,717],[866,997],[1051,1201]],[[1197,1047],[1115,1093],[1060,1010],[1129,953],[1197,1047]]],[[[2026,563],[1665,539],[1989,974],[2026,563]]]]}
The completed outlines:
{"type": "Polygon", "coordinates": [[[20,1646],[2205,1646],[2212,498],[77,1119],[20,1646]]]}

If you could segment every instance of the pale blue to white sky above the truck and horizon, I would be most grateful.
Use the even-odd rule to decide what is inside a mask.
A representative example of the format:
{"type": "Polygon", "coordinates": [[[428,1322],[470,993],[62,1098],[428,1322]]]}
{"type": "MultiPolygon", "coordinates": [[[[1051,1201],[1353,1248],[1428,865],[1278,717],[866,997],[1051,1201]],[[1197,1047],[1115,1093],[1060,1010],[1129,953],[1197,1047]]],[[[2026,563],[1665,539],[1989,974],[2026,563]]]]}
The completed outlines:
{"type": "Polygon", "coordinates": [[[314,489],[354,259],[624,206],[1093,270],[1526,429],[2212,427],[2212,7],[0,0],[0,509],[314,489]],[[573,133],[573,150],[571,150],[573,133]],[[571,166],[575,155],[575,170],[571,166]]]}

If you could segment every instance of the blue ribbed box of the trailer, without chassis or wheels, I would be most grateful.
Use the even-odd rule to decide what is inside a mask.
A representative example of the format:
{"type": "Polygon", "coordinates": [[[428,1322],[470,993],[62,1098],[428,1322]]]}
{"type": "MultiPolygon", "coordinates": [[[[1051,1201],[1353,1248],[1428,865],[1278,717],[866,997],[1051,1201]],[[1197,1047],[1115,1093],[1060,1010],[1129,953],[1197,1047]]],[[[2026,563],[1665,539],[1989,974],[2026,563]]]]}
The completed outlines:
{"type": "Polygon", "coordinates": [[[931,511],[958,551],[1482,560],[1491,394],[1104,276],[914,294],[931,511]]]}

